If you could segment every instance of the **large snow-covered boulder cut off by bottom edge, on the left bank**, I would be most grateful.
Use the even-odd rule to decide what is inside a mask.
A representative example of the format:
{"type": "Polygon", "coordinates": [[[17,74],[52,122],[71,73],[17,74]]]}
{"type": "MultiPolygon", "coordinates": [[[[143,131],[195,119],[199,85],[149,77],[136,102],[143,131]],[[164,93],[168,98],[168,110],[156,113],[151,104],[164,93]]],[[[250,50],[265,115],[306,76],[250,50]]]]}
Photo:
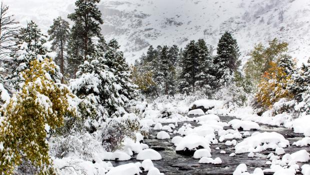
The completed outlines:
{"type": "Polygon", "coordinates": [[[112,168],[105,175],[139,175],[141,170],[136,164],[129,163],[112,168]]]}

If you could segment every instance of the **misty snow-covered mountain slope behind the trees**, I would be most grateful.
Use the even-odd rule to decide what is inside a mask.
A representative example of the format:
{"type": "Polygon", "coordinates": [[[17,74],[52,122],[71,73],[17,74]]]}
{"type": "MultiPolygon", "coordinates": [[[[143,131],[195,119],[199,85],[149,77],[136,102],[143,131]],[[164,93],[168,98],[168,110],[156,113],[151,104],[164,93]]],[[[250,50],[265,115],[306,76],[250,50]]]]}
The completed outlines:
{"type": "MultiPolygon", "coordinates": [[[[47,30],[52,18],[74,9],[74,0],[4,0],[22,23],[35,20],[47,30]]],[[[309,55],[310,1],[307,0],[101,0],[103,34],[115,37],[128,62],[148,45],[177,44],[204,38],[216,47],[220,35],[232,31],[243,62],[253,45],[278,37],[292,56],[309,55]],[[282,14],[282,15],[281,15],[282,14]]]]}

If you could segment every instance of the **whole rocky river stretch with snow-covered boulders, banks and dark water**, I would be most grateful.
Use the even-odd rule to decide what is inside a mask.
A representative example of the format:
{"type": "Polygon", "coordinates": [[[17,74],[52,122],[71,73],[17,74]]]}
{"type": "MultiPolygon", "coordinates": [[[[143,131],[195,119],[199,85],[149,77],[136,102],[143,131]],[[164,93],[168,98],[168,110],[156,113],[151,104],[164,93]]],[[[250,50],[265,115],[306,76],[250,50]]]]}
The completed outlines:
{"type": "Polygon", "coordinates": [[[137,134],[135,143],[127,140],[123,149],[102,155],[104,161],[83,165],[106,175],[310,175],[310,138],[301,131],[307,118],[259,118],[247,108],[227,110],[207,102],[215,104],[206,112],[212,114],[199,116],[185,115],[192,105],[186,100],[148,104],[141,120],[150,126],[148,138],[137,134]],[[161,118],[164,112],[171,115],[161,118]]]}

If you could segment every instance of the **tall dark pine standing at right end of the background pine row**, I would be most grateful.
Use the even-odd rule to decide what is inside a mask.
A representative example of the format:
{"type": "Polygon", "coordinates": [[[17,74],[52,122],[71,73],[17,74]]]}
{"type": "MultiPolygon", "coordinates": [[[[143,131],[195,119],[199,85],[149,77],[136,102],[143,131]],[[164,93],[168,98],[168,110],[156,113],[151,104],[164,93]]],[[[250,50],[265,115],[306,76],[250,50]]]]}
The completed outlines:
{"type": "Polygon", "coordinates": [[[223,77],[224,75],[231,76],[234,71],[240,66],[239,48],[237,41],[232,37],[231,33],[225,32],[219,39],[217,44],[217,56],[213,60],[214,76],[216,80],[222,84],[227,84],[220,79],[229,79],[223,77]]]}

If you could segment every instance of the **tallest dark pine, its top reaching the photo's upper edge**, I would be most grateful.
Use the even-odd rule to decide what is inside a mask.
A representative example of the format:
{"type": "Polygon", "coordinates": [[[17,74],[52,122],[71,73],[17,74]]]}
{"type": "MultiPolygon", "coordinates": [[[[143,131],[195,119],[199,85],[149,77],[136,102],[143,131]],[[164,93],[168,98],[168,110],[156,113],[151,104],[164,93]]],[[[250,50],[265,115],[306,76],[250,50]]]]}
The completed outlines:
{"type": "MultiPolygon", "coordinates": [[[[103,24],[101,19],[101,12],[99,11],[96,3],[100,0],[77,0],[75,2],[75,11],[68,15],[68,18],[74,22],[74,28],[72,28],[72,37],[81,37],[82,45],[80,52],[83,54],[84,60],[87,60],[87,56],[90,56],[94,52],[94,46],[92,37],[99,37],[101,28],[100,24],[103,24]]],[[[72,38],[72,39],[73,39],[72,38]]],[[[71,40],[71,42],[73,42],[71,40]]],[[[75,45],[75,44],[74,44],[75,45]]],[[[80,54],[80,53],[78,53],[80,54]]],[[[81,55],[75,55],[80,57],[81,55]]]]}

